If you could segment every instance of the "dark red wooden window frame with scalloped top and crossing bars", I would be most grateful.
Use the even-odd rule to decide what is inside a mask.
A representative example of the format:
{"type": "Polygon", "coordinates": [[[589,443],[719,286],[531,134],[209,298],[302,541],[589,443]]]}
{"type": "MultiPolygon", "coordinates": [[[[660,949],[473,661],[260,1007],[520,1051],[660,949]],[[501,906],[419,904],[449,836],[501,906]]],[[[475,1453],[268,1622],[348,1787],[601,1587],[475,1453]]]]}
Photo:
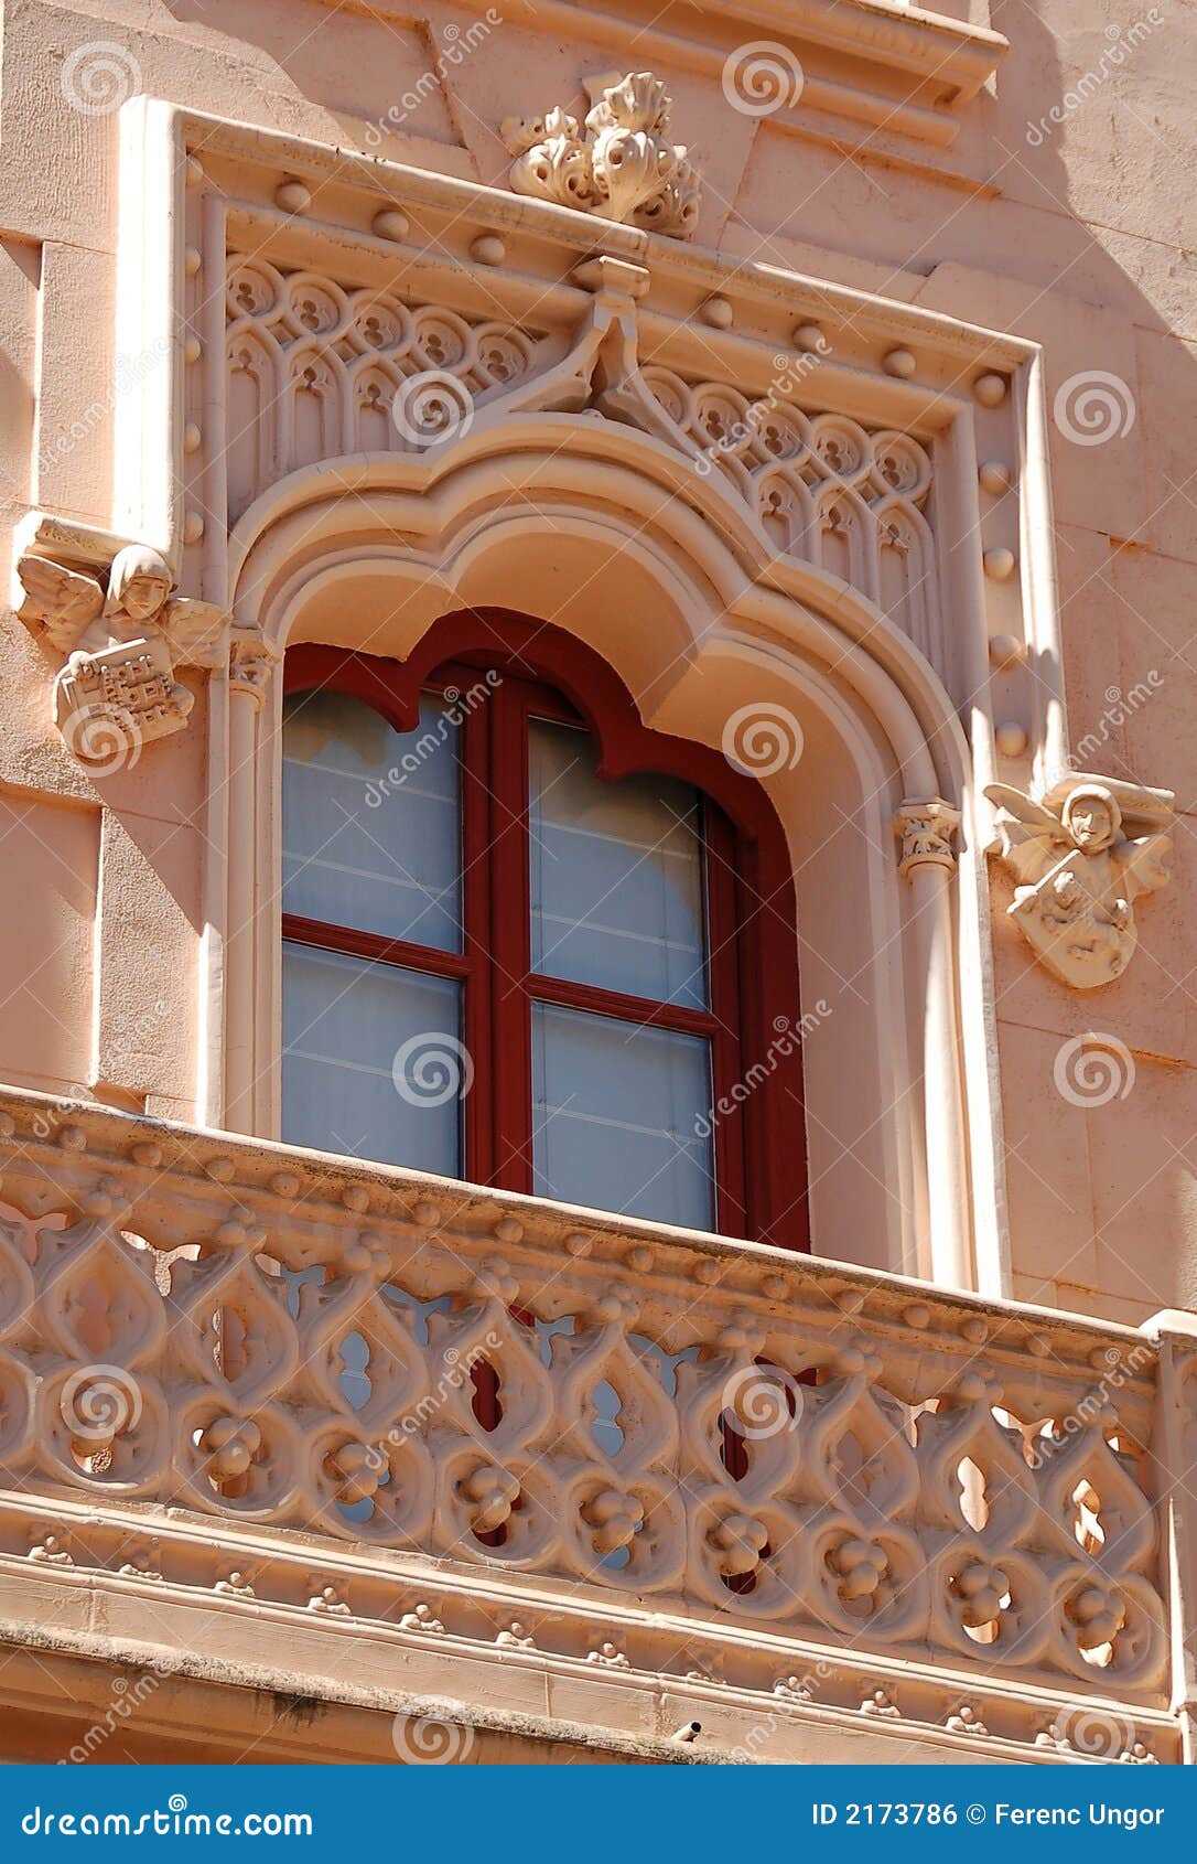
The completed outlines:
{"type": "Polygon", "coordinates": [[[456,688],[467,695],[486,671],[497,675],[490,695],[462,708],[462,951],[292,913],[283,913],[283,938],[464,986],[462,1035],[475,1062],[465,1176],[508,1191],[532,1189],[532,1001],[706,1036],[713,1102],[730,1109],[713,1131],[717,1228],[810,1249],[793,876],[760,785],[706,746],[650,731],[605,660],[558,628],[506,610],[443,617],[404,662],[294,647],[285,690],[344,692],[395,731],[413,731],[421,693],[456,688]],[[603,781],[657,772],[702,792],[709,1010],[532,973],[531,718],[590,731],[603,781]]]}

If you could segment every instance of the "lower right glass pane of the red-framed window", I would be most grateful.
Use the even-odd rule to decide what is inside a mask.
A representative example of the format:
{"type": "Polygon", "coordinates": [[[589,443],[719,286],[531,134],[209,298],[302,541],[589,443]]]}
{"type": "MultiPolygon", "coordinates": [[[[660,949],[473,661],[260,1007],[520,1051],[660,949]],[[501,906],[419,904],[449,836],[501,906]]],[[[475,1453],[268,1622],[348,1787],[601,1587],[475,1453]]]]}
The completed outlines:
{"type": "Polygon", "coordinates": [[[532,1005],[532,1176],[542,1197],[709,1230],[702,1036],[532,1005]]]}

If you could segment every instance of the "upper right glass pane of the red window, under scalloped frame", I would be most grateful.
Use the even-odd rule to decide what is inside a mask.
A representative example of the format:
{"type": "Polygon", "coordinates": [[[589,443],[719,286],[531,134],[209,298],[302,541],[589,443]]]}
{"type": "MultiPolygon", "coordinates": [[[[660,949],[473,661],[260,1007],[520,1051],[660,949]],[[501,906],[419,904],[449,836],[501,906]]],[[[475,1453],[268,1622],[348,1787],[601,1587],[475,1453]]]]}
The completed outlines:
{"type": "Polygon", "coordinates": [[[698,796],[672,777],[599,783],[596,744],[529,734],[532,969],[706,1008],[698,796]]]}

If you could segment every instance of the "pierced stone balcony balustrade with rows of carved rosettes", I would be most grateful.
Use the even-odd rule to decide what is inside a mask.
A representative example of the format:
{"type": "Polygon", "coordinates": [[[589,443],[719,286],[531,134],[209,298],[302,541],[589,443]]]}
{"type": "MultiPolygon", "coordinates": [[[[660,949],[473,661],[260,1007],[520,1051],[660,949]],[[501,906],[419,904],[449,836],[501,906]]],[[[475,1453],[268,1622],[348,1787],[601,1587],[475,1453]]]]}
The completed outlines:
{"type": "Polygon", "coordinates": [[[1160,1700],[1141,1335],[4,1103],[9,1491],[1160,1700]]]}

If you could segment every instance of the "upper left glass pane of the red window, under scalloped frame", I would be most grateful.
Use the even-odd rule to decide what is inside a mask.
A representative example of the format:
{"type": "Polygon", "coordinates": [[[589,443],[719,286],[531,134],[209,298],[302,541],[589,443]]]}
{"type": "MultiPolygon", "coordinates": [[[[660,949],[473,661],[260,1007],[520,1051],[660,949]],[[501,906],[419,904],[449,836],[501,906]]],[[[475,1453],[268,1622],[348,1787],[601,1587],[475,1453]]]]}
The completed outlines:
{"type": "Polygon", "coordinates": [[[283,911],[462,949],[458,731],[424,695],[398,733],[348,693],[289,693],[283,911]]]}

